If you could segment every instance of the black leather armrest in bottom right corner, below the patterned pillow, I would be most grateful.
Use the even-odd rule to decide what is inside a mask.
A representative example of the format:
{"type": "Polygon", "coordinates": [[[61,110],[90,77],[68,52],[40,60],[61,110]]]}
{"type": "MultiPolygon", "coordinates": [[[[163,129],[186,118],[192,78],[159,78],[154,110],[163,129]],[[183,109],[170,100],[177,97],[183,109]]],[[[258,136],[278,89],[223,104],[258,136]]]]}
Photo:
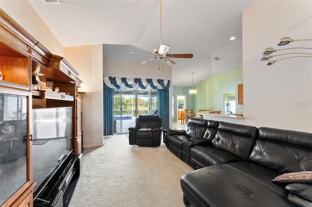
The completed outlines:
{"type": "Polygon", "coordinates": [[[312,185],[307,183],[292,183],[286,186],[291,191],[287,200],[300,207],[312,206],[312,185]]]}

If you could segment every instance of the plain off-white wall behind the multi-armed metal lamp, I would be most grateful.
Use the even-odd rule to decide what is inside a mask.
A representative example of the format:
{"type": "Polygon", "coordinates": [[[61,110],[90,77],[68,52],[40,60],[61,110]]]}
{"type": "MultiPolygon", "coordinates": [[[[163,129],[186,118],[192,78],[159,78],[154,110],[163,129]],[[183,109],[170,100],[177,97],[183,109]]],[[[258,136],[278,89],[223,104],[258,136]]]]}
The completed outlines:
{"type": "Polygon", "coordinates": [[[260,61],[267,47],[312,48],[312,41],[276,45],[285,36],[312,39],[311,25],[312,1],[259,0],[243,12],[243,124],[312,132],[312,58],[281,60],[273,66],[260,61]]]}

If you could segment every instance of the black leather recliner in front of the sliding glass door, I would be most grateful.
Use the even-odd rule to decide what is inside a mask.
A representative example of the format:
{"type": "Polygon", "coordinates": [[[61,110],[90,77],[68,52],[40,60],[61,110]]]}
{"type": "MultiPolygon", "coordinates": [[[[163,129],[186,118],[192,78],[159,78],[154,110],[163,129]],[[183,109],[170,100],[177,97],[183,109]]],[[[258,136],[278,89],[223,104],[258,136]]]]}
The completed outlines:
{"type": "Polygon", "coordinates": [[[129,144],[146,147],[159,146],[161,133],[161,117],[140,115],[137,118],[136,127],[129,128],[129,144]]]}

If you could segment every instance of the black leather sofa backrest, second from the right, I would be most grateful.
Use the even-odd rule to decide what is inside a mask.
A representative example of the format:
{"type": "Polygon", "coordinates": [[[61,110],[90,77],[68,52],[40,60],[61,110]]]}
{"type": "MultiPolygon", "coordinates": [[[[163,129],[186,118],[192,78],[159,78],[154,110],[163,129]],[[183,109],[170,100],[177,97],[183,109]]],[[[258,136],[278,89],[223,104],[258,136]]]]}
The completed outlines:
{"type": "Polygon", "coordinates": [[[257,128],[254,126],[220,121],[212,145],[247,161],[256,136],[257,128]]]}

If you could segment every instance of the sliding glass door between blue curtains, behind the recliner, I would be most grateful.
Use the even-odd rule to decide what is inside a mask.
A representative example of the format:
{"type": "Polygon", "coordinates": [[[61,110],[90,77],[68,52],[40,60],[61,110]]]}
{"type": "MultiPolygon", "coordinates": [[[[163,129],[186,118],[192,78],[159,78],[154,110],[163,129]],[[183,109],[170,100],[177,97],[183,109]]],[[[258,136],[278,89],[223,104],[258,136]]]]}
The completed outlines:
{"type": "Polygon", "coordinates": [[[128,133],[136,125],[139,115],[157,114],[157,90],[116,89],[114,90],[114,133],[128,133]]]}

